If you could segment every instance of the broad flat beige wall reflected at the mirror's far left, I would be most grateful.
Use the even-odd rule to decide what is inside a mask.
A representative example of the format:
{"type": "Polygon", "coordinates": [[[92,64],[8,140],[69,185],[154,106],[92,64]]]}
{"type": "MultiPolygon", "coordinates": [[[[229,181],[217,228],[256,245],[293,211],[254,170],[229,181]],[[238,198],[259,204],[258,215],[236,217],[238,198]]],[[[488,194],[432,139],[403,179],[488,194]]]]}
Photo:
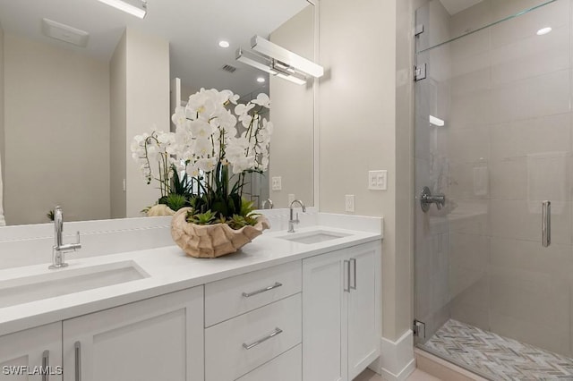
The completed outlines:
{"type": "Polygon", "coordinates": [[[107,63],[4,34],[7,224],[109,217],[107,63]]]}

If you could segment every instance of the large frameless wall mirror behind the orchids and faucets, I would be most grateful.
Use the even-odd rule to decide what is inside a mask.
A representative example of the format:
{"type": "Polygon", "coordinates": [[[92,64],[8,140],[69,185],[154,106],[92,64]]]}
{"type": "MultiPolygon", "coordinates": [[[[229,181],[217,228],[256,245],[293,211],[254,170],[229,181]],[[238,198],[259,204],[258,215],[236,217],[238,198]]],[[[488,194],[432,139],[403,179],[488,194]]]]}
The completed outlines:
{"type": "MultiPolygon", "coordinates": [[[[114,201],[125,187],[154,191],[142,176],[126,182],[125,175],[115,174],[136,173],[137,165],[130,153],[115,155],[114,146],[127,147],[133,136],[116,131],[114,120],[129,120],[146,105],[129,99],[119,105],[116,99],[125,94],[115,81],[146,86],[153,80],[137,68],[156,64],[156,55],[135,59],[128,45],[128,53],[118,58],[126,35],[137,36],[133,47],[150,41],[167,47],[168,76],[158,87],[172,99],[160,106],[167,128],[175,78],[183,100],[201,88],[230,89],[244,100],[269,94],[275,125],[269,171],[252,179],[250,197],[259,206],[270,198],[275,207],[287,207],[294,197],[314,205],[314,80],[297,85],[269,78],[235,60],[236,49],[250,47],[252,36],[259,35],[314,61],[314,5],[307,0],[148,0],[147,8],[140,20],[98,0],[0,2],[0,195],[6,224],[47,223],[48,212],[58,204],[66,221],[141,216],[137,207],[117,207],[122,202],[114,201]],[[77,33],[56,29],[49,37],[43,19],[77,33]],[[87,34],[85,41],[81,32],[87,34]],[[219,47],[222,40],[229,47],[219,47]],[[117,62],[126,68],[119,79],[117,62]],[[281,179],[280,189],[271,188],[273,177],[281,179]]],[[[145,118],[136,124],[141,131],[154,127],[145,118]]],[[[144,200],[141,208],[157,198],[144,200]]]]}

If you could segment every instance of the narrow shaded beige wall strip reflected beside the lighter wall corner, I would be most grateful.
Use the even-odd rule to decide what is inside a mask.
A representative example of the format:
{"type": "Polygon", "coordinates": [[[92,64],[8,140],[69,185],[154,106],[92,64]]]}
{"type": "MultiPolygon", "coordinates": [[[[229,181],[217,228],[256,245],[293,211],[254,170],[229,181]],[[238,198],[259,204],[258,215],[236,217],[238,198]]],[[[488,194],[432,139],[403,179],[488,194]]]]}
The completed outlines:
{"type": "Polygon", "coordinates": [[[127,91],[127,42],[126,35],[117,43],[109,62],[109,112],[110,112],[110,202],[112,218],[124,218],[127,210],[124,180],[127,149],[126,91],[127,91]]]}

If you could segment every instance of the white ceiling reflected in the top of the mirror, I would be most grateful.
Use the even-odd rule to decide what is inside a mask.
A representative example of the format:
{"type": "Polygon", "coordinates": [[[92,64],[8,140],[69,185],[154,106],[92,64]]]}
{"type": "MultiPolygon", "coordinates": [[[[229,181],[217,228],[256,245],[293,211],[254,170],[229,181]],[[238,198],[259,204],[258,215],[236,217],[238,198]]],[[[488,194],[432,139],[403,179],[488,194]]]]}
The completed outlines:
{"type": "MultiPolygon", "coordinates": [[[[299,13],[306,0],[148,0],[140,20],[97,0],[0,0],[0,25],[5,33],[45,40],[109,61],[124,28],[169,41],[171,77],[195,89],[231,89],[237,94],[261,91],[256,78],[265,74],[235,61],[238,47],[249,47],[258,34],[268,37],[299,13]],[[90,33],[87,47],[74,47],[41,33],[47,18],[90,33]],[[226,39],[230,47],[218,47],[226,39]],[[221,70],[233,65],[236,72],[221,70]]],[[[312,58],[312,57],[311,57],[312,58]]]]}

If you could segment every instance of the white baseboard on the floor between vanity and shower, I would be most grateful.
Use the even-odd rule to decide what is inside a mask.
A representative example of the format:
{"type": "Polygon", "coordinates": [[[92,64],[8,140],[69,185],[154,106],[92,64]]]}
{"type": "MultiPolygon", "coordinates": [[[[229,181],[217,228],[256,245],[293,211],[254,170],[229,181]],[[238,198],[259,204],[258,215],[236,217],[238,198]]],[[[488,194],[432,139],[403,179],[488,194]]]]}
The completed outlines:
{"type": "Polygon", "coordinates": [[[377,373],[387,381],[404,381],[415,370],[414,336],[406,331],[396,342],[382,337],[381,360],[377,373]]]}

